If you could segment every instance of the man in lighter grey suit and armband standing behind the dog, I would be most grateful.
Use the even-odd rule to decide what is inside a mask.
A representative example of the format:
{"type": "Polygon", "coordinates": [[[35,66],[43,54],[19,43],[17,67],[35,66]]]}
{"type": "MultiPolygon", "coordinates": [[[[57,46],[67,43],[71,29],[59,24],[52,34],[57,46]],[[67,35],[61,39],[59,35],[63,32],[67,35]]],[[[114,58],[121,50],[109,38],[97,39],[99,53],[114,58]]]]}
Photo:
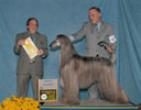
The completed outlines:
{"type": "MultiPolygon", "coordinates": [[[[116,38],[112,26],[109,23],[101,21],[100,9],[93,7],[89,9],[90,22],[85,22],[83,28],[72,36],[70,41],[77,41],[86,36],[86,56],[90,57],[107,57],[111,58],[116,48],[116,38]],[[107,48],[99,46],[99,42],[106,42],[109,46],[107,48]]],[[[90,99],[98,98],[97,86],[88,89],[90,99]]]]}

